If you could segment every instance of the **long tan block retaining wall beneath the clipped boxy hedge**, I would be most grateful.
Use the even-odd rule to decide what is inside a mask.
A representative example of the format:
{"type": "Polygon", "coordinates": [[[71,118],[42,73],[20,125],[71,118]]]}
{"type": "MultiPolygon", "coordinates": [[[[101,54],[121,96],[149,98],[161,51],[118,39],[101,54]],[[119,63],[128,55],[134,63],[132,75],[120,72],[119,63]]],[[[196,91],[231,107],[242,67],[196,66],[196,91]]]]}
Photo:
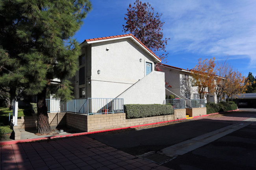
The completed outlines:
{"type": "Polygon", "coordinates": [[[143,124],[171,121],[175,119],[184,119],[186,118],[186,109],[174,110],[174,115],[163,115],[137,119],[126,119],[125,113],[99,115],[81,115],[75,113],[66,114],[67,126],[84,130],[85,132],[94,132],[99,130],[109,130],[143,124]]]}

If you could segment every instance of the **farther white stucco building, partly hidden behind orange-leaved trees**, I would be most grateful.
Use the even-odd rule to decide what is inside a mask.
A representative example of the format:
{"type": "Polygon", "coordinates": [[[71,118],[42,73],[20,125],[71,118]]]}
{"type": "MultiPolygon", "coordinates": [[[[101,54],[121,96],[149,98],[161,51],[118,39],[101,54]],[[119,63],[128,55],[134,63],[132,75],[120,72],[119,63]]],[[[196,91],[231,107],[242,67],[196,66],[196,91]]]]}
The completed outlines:
{"type": "MultiPolygon", "coordinates": [[[[168,88],[168,85],[165,85],[167,97],[174,95],[181,99],[199,99],[198,88],[193,87],[191,84],[191,71],[166,64],[163,64],[162,71],[165,73],[165,81],[172,86],[168,88]]],[[[206,92],[204,99],[206,99],[206,102],[217,102],[217,97],[214,92],[206,92]]]]}

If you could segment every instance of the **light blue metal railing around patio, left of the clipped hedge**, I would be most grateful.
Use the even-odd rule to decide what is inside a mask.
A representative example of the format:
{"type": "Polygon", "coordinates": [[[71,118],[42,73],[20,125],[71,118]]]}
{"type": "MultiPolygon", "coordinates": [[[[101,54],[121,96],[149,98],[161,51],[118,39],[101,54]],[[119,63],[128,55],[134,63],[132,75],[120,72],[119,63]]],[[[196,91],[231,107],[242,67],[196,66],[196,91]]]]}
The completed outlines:
{"type": "Polygon", "coordinates": [[[124,100],[116,98],[86,98],[63,102],[46,99],[47,112],[73,112],[82,114],[124,113],[124,100]]]}

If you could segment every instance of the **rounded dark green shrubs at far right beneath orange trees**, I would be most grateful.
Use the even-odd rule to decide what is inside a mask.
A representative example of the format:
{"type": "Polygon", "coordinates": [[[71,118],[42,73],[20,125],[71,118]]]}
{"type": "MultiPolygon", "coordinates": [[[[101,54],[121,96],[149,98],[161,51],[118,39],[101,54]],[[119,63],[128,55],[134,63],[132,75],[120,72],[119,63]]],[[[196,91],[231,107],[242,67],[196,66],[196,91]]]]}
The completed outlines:
{"type": "Polygon", "coordinates": [[[219,102],[219,104],[215,104],[213,102],[206,103],[206,113],[218,113],[218,112],[224,112],[229,110],[236,110],[237,105],[234,102],[219,102]]]}

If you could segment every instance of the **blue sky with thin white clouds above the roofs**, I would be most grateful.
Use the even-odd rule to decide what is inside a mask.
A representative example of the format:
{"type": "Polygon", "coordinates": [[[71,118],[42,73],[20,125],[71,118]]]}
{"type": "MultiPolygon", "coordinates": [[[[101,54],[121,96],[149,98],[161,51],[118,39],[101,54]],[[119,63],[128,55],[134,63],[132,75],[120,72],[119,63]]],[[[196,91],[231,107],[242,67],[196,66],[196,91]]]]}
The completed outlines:
{"type": "MultiPolygon", "coordinates": [[[[74,38],[124,34],[124,14],[135,0],[91,0],[93,10],[74,38]]],[[[256,76],[255,0],[147,0],[162,13],[168,65],[191,69],[199,58],[225,60],[244,76],[256,76]]]]}

